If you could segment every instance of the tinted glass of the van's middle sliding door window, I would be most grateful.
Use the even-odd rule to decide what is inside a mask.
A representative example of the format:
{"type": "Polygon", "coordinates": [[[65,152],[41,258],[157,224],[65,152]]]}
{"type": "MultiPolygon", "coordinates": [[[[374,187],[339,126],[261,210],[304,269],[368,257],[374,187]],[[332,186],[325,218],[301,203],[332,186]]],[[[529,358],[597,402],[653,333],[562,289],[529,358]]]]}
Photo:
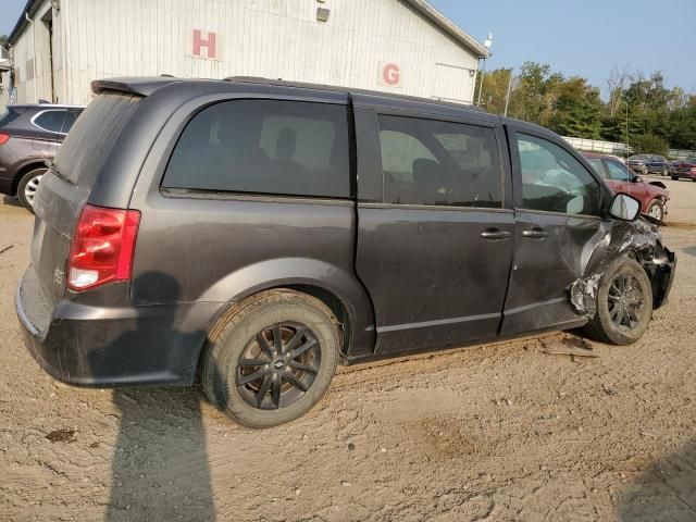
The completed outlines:
{"type": "Polygon", "coordinates": [[[493,128],[381,115],[380,145],[385,203],[502,207],[493,128]]]}

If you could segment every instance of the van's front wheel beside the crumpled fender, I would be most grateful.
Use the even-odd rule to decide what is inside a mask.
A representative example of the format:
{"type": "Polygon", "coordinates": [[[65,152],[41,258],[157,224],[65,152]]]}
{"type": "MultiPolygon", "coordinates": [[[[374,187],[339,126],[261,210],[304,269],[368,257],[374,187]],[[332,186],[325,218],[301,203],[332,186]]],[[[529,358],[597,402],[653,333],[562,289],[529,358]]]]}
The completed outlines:
{"type": "Polygon", "coordinates": [[[647,273],[635,260],[620,258],[609,264],[599,279],[597,312],[585,331],[601,343],[631,345],[643,337],[651,316],[652,288],[647,273]],[[621,288],[622,279],[630,283],[624,289],[621,288]],[[639,304],[631,306],[634,300],[639,300],[639,304]],[[629,307],[631,311],[624,314],[622,307],[623,310],[629,307]]]}

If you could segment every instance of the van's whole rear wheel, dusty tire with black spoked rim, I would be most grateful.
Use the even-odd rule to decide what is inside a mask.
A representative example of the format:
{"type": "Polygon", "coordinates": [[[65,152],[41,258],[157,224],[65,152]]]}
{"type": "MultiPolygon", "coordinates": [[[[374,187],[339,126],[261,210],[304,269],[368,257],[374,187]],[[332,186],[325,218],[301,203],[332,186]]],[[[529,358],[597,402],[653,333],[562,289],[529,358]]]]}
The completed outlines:
{"type": "Polygon", "coordinates": [[[210,339],[201,361],[203,390],[249,427],[290,422],[316,405],[334,377],[341,343],[331,310],[291,290],[243,301],[221,319],[210,339]]]}

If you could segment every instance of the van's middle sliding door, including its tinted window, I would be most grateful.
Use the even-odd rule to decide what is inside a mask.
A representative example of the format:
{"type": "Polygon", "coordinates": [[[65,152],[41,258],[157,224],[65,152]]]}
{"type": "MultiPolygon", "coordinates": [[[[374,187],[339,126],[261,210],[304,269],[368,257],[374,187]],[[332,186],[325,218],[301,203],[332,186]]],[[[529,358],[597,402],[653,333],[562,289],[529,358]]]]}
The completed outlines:
{"type": "Polygon", "coordinates": [[[376,353],[495,337],[514,234],[496,122],[356,113],[356,266],[374,306],[376,353]]]}

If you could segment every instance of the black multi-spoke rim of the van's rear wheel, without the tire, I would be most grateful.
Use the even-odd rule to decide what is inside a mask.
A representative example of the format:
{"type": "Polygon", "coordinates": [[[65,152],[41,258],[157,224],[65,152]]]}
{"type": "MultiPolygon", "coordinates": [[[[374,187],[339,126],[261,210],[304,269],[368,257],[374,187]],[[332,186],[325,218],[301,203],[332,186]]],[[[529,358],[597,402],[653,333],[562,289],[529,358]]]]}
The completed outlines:
{"type": "Polygon", "coordinates": [[[304,395],[320,368],[314,334],[298,323],[276,323],[259,332],[244,350],[235,383],[247,403],[277,410],[304,395]]]}

